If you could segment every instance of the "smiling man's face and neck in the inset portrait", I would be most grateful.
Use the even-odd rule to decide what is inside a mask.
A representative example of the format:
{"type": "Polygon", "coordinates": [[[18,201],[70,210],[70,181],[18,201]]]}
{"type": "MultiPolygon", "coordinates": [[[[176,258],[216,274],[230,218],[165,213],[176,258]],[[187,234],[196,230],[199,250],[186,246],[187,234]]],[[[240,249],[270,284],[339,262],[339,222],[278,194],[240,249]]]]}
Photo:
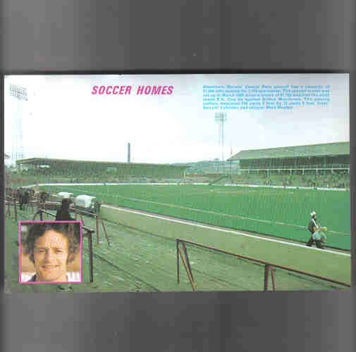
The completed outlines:
{"type": "Polygon", "coordinates": [[[33,251],[37,281],[67,281],[68,239],[60,232],[47,230],[35,241],[33,251]]]}

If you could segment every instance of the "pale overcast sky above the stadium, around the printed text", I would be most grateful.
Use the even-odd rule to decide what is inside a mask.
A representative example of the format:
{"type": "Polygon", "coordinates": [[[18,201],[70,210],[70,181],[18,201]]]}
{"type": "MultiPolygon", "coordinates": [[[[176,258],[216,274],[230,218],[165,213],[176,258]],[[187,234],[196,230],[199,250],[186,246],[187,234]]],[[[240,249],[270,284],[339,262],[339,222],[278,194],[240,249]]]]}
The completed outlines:
{"type": "Polygon", "coordinates": [[[215,111],[202,108],[203,85],[330,84],[328,107],[225,111],[224,158],[247,149],[348,142],[348,75],[13,75],[5,77],[5,153],[21,116],[25,158],[133,163],[188,163],[222,158],[215,111]],[[27,88],[27,101],[10,96],[27,88]],[[93,95],[94,85],[133,87],[127,95],[93,95]],[[171,95],[136,95],[140,85],[172,85],[171,95]]]}

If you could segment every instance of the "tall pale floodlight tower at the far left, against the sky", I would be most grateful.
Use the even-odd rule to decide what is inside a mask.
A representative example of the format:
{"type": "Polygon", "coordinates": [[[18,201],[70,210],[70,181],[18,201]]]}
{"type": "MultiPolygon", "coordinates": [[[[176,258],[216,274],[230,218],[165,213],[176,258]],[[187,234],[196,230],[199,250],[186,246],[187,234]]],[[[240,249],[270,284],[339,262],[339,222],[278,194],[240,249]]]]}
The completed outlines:
{"type": "Polygon", "coordinates": [[[23,101],[27,101],[27,89],[16,84],[10,84],[10,95],[16,99],[16,109],[13,118],[13,147],[11,153],[12,162],[24,158],[23,153],[23,101]]]}

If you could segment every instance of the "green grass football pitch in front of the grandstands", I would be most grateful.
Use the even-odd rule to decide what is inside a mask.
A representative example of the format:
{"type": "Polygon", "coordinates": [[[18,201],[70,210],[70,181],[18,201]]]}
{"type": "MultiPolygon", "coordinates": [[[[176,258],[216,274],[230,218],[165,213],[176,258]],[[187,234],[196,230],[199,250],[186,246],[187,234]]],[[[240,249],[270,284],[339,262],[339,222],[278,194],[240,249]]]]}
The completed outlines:
{"type": "Polygon", "coordinates": [[[328,228],[326,245],[350,250],[350,192],[207,185],[63,185],[52,192],[88,194],[114,206],[146,210],[233,230],[305,242],[309,213],[328,228]]]}

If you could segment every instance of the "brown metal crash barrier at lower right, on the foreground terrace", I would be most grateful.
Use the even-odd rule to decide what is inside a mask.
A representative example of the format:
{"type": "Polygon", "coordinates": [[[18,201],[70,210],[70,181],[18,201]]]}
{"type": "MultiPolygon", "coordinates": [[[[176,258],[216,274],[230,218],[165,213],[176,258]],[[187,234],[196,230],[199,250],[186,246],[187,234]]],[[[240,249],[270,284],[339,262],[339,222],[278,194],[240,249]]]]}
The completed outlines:
{"type": "Polygon", "coordinates": [[[240,259],[247,260],[250,263],[264,265],[264,291],[269,291],[269,274],[271,274],[272,291],[276,291],[277,290],[277,288],[276,288],[276,268],[281,269],[281,270],[286,270],[287,272],[293,272],[293,273],[297,273],[297,274],[300,274],[300,275],[304,275],[305,277],[313,277],[313,278],[316,278],[316,279],[320,279],[320,280],[322,280],[324,282],[330,282],[330,283],[333,283],[333,284],[338,284],[338,285],[343,286],[343,287],[351,287],[351,285],[346,283],[346,282],[340,282],[340,281],[335,280],[335,279],[330,279],[329,277],[322,277],[322,276],[319,276],[319,275],[314,275],[314,274],[312,274],[310,272],[305,272],[305,271],[302,271],[302,270],[296,270],[296,269],[293,269],[293,268],[288,268],[288,267],[283,266],[283,265],[269,263],[269,262],[266,262],[264,260],[259,260],[259,259],[255,259],[255,258],[249,258],[247,256],[241,256],[239,254],[230,253],[230,252],[227,252],[227,251],[223,251],[221,249],[216,249],[216,248],[211,247],[211,246],[204,246],[203,244],[198,244],[196,242],[187,241],[185,239],[176,239],[177,281],[178,281],[178,284],[179,284],[179,282],[180,282],[180,260],[181,260],[182,263],[183,263],[183,266],[185,268],[185,271],[187,272],[190,284],[192,286],[192,291],[197,291],[197,289],[195,287],[195,279],[194,279],[193,274],[192,274],[192,268],[191,268],[191,265],[190,265],[190,259],[189,259],[187,247],[185,246],[185,244],[189,244],[189,245],[195,246],[195,247],[200,247],[202,249],[207,249],[209,251],[214,251],[216,253],[227,254],[228,256],[233,256],[235,258],[240,258],[240,259]]]}

